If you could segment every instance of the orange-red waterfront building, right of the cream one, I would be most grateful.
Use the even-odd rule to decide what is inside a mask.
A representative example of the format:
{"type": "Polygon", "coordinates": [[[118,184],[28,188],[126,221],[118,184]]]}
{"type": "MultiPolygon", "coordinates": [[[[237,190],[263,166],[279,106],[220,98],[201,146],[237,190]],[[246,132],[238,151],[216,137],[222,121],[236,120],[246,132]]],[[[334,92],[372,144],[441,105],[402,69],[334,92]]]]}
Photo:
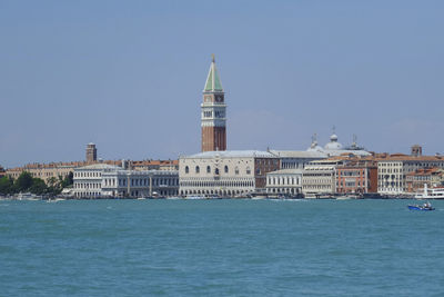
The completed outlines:
{"type": "Polygon", "coordinates": [[[336,167],[337,194],[377,192],[377,165],[373,160],[353,160],[336,167]]]}

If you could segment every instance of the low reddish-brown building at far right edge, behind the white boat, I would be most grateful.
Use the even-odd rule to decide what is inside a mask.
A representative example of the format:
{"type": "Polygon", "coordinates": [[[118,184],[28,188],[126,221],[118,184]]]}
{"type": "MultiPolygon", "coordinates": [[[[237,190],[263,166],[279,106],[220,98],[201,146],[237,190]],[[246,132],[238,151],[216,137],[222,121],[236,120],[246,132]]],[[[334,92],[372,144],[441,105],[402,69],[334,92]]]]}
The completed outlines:
{"type": "Polygon", "coordinates": [[[424,185],[427,188],[442,186],[444,184],[444,169],[442,168],[426,168],[417,169],[405,176],[407,192],[423,191],[424,185]]]}

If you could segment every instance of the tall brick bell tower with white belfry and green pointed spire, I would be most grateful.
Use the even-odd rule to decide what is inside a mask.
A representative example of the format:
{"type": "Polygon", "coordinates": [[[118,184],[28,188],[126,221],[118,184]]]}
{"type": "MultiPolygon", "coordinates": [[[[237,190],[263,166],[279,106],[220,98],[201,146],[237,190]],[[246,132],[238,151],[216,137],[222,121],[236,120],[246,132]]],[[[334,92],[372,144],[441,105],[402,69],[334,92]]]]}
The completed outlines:
{"type": "Polygon", "coordinates": [[[201,105],[202,151],[226,150],[226,105],[214,55],[201,105]]]}

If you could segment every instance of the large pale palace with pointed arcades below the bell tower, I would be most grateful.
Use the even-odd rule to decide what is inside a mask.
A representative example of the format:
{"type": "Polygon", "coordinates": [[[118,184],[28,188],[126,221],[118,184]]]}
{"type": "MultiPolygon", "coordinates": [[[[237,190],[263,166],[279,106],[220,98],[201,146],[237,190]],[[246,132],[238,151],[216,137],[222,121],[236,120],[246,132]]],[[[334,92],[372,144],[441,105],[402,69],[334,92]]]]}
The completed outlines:
{"type": "Polygon", "coordinates": [[[268,151],[205,151],[179,158],[180,195],[234,197],[264,192],[266,174],[280,168],[268,151]]]}

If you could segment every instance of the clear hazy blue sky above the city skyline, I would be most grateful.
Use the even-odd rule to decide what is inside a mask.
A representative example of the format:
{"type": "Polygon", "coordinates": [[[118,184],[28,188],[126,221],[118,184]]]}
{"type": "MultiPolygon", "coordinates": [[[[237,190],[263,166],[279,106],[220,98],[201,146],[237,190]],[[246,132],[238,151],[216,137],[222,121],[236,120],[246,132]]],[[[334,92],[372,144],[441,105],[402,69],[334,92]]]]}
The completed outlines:
{"type": "Polygon", "coordinates": [[[215,55],[228,149],[444,152],[444,1],[0,1],[0,165],[200,151],[215,55]]]}

